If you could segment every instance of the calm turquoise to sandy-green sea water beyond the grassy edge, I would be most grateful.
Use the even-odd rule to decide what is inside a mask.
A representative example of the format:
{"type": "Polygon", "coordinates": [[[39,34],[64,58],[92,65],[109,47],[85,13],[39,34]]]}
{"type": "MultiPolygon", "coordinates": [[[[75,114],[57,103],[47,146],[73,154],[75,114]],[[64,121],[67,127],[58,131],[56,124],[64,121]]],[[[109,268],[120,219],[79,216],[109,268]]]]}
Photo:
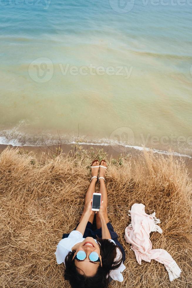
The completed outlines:
{"type": "Polygon", "coordinates": [[[133,1],[1,1],[1,144],[192,154],[192,3],[133,1]]]}

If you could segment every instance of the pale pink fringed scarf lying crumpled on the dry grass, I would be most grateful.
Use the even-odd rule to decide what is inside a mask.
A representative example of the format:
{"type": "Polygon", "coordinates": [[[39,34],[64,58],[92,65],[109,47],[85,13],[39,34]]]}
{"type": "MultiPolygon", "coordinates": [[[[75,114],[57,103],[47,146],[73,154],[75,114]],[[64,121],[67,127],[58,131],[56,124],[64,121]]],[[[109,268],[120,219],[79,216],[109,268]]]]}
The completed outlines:
{"type": "Polygon", "coordinates": [[[171,255],[164,249],[152,249],[149,234],[154,231],[162,233],[161,228],[157,225],[160,220],[155,217],[155,212],[148,215],[145,213],[145,206],[137,203],[129,212],[131,224],[125,228],[125,240],[132,245],[131,249],[135,252],[137,262],[141,265],[142,260],[151,262],[151,259],[154,259],[165,265],[170,281],[178,278],[181,269],[171,255]]]}

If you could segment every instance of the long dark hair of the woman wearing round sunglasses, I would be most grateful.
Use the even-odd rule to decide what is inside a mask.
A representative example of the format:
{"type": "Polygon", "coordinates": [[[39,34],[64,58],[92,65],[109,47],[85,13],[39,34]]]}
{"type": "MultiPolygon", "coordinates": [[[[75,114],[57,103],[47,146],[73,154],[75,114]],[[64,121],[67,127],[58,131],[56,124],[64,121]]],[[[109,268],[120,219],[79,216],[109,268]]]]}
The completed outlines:
{"type": "MultiPolygon", "coordinates": [[[[110,271],[119,268],[121,265],[122,255],[120,259],[114,261],[117,254],[116,248],[119,248],[119,246],[110,240],[100,238],[97,238],[97,243],[100,245],[102,267],[98,267],[94,276],[86,276],[78,272],[74,260],[72,261],[75,251],[69,252],[65,257],[64,278],[69,281],[72,288],[106,288],[109,284],[110,271]]],[[[120,248],[119,250],[121,251],[120,248]]]]}

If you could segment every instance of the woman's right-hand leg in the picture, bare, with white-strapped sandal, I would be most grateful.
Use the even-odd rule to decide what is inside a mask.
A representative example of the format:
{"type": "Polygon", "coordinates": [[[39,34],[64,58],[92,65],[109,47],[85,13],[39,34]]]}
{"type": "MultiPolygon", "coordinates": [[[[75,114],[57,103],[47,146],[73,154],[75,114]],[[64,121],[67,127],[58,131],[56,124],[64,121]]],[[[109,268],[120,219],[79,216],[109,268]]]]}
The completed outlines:
{"type": "MultiPolygon", "coordinates": [[[[102,161],[101,165],[107,167],[107,163],[105,161],[102,161]]],[[[100,169],[99,169],[99,177],[104,177],[105,178],[105,172],[106,172],[106,169],[100,167],[100,169]]],[[[101,193],[101,200],[103,201],[103,205],[105,207],[105,215],[104,215],[105,216],[105,221],[106,221],[106,223],[108,223],[109,219],[108,219],[108,216],[107,216],[107,189],[106,189],[106,186],[105,186],[104,179],[100,179],[99,181],[100,181],[99,192],[101,193]]],[[[98,213],[96,214],[96,226],[97,226],[97,229],[101,228],[101,220],[100,220],[100,217],[99,217],[98,213]]]]}

